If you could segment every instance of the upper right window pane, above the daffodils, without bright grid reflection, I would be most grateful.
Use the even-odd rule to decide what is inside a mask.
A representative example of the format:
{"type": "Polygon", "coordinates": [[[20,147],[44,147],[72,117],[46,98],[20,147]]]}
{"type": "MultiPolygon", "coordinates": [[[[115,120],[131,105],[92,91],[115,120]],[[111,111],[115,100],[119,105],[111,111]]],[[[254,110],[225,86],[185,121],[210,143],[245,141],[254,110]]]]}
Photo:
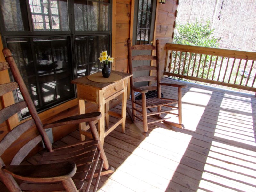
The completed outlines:
{"type": "Polygon", "coordinates": [[[74,3],[76,31],[109,30],[109,3],[85,0],[75,0],[74,3]]]}

